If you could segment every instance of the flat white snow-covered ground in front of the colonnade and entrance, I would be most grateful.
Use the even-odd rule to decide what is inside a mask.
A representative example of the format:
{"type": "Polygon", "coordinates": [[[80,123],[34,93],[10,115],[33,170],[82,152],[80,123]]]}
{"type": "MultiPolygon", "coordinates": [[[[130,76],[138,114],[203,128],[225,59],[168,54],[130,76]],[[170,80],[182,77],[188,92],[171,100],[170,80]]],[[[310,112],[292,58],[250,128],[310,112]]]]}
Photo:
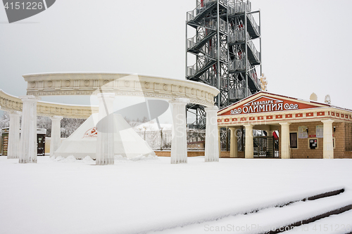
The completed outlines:
{"type": "MultiPolygon", "coordinates": [[[[170,157],[117,157],[115,165],[96,166],[88,158],[18,164],[0,157],[0,233],[234,233],[211,228],[275,224],[278,209],[287,209],[282,221],[352,202],[351,167],[352,160],[189,157],[188,164],[170,164],[170,157]],[[307,202],[306,214],[304,202],[273,208],[337,188],[346,191],[307,202]],[[263,210],[244,215],[254,209],[263,210]]],[[[326,223],[351,225],[351,216],[322,219],[321,231],[308,233],[324,233],[326,223]]]]}

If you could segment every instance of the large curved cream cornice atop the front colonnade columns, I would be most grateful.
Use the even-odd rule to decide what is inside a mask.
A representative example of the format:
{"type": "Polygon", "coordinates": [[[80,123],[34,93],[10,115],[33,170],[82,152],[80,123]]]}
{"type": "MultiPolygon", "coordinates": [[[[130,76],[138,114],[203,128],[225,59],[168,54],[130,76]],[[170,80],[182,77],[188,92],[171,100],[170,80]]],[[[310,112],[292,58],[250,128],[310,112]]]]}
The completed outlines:
{"type": "Polygon", "coordinates": [[[117,96],[145,96],[172,100],[189,98],[191,103],[212,107],[218,89],[186,79],[165,79],[118,73],[43,73],[23,75],[27,95],[92,95],[103,91],[117,96]]]}

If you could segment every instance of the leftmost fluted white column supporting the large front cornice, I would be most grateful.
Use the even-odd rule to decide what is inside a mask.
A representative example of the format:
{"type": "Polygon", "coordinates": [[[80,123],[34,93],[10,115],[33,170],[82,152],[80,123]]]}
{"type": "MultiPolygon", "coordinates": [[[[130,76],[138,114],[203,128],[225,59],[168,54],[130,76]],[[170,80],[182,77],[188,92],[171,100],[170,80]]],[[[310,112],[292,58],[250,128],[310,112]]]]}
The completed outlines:
{"type": "Polygon", "coordinates": [[[37,162],[37,102],[38,97],[20,96],[23,101],[20,136],[20,163],[37,162]]]}

